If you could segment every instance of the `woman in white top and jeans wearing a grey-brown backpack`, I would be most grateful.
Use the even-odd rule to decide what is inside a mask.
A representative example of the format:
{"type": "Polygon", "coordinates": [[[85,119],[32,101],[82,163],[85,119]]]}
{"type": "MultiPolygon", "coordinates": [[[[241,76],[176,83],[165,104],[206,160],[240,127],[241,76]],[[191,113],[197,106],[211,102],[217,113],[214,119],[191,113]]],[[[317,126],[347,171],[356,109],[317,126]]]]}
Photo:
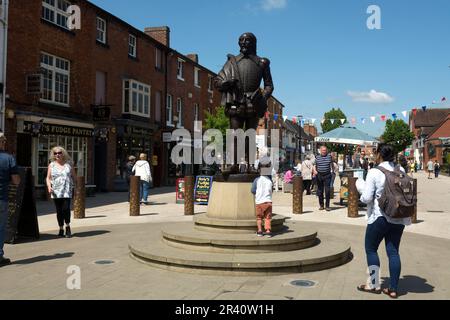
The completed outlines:
{"type": "Polygon", "coordinates": [[[371,281],[357,289],[368,293],[384,293],[392,299],[397,299],[401,272],[400,241],[405,226],[411,224],[410,217],[416,198],[412,179],[406,175],[403,168],[394,165],[394,148],[388,144],[380,144],[376,156],[378,167],[369,171],[365,182],[361,179],[357,181],[358,191],[362,194],[361,201],[367,204],[365,249],[371,275],[371,281]],[[392,195],[401,190],[405,191],[404,198],[408,200],[406,203],[395,203],[395,197],[392,195]],[[389,258],[390,285],[381,290],[380,259],[377,251],[383,239],[389,258]]]}

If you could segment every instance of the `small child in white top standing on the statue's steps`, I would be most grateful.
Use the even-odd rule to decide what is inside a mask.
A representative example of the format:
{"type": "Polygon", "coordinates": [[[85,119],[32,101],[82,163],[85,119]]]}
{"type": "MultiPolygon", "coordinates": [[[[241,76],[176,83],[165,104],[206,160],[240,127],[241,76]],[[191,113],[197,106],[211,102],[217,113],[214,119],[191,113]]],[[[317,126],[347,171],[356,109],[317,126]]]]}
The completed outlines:
{"type": "Polygon", "coordinates": [[[255,195],[257,236],[272,238],[272,194],[273,182],[271,176],[272,163],[269,157],[263,157],[259,162],[261,176],[252,184],[252,193],[255,195]],[[264,230],[263,232],[263,220],[264,230]]]}

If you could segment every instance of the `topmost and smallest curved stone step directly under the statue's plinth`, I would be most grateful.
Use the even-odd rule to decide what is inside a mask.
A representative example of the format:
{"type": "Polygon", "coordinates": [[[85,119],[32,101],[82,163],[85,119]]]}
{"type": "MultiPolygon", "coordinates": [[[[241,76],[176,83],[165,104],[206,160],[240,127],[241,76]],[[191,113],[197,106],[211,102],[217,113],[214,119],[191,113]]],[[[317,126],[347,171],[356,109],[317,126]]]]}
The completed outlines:
{"type": "MultiPolygon", "coordinates": [[[[272,216],[272,231],[275,233],[285,229],[284,222],[286,217],[272,216]]],[[[220,232],[220,233],[254,233],[256,231],[256,217],[252,220],[225,220],[210,218],[206,214],[196,215],[194,217],[195,228],[200,231],[220,232]]]]}

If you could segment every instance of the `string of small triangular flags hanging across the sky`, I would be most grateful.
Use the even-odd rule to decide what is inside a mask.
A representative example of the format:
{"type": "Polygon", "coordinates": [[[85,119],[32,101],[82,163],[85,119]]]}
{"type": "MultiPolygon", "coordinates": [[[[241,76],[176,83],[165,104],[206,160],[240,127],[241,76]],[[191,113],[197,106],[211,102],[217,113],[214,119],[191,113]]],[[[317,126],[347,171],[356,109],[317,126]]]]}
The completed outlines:
{"type": "MultiPolygon", "coordinates": [[[[447,98],[443,97],[441,99],[441,102],[446,102],[447,98]]],[[[436,101],[433,101],[433,104],[437,104],[436,101]]],[[[424,112],[427,111],[428,106],[423,106],[421,108],[421,110],[423,110],[424,112]]],[[[413,108],[412,109],[412,113],[415,116],[417,114],[417,112],[420,110],[420,108],[413,108]]],[[[271,112],[267,111],[265,114],[265,119],[267,120],[271,120],[273,118],[274,122],[277,122],[278,120],[291,120],[294,124],[300,124],[301,126],[304,126],[305,124],[312,124],[315,125],[316,122],[318,122],[320,120],[321,124],[324,124],[326,121],[329,121],[331,124],[335,124],[336,122],[340,122],[341,124],[345,124],[347,123],[351,123],[352,125],[356,125],[357,123],[361,123],[361,124],[366,124],[367,122],[371,121],[372,123],[375,123],[377,121],[382,121],[382,122],[386,122],[389,119],[393,119],[393,120],[398,120],[401,119],[401,116],[403,116],[403,118],[408,119],[408,115],[409,115],[409,111],[407,110],[403,110],[401,112],[396,112],[396,113],[392,113],[391,115],[387,115],[387,114],[376,114],[376,115],[372,115],[370,117],[349,117],[346,119],[317,119],[317,118],[303,118],[303,117],[288,117],[288,116],[280,116],[279,114],[272,114],[271,112]]]]}

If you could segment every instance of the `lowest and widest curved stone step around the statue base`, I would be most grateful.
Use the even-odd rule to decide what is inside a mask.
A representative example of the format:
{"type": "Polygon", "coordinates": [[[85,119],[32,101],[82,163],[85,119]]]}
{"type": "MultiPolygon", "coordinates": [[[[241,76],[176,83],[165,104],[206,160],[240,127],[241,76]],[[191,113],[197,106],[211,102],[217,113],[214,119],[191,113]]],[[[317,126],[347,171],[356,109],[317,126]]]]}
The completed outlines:
{"type": "Polygon", "coordinates": [[[263,254],[208,253],[168,246],[161,241],[157,227],[147,233],[145,243],[129,245],[130,256],[166,270],[212,275],[280,275],[330,269],[351,260],[349,244],[328,235],[321,234],[320,244],[303,250],[263,254]]]}

